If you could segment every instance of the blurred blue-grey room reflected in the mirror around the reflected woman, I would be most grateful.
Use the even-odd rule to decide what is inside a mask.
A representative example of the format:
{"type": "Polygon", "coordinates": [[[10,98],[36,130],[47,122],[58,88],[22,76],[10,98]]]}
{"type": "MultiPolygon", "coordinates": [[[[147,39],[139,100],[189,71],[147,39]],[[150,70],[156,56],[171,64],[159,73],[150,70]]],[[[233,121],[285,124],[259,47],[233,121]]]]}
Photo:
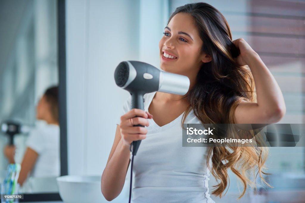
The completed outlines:
{"type": "MultiPolygon", "coordinates": [[[[0,26],[0,121],[29,130],[43,126],[36,120],[36,106],[49,86],[58,85],[56,1],[0,1],[0,26]]],[[[22,162],[29,130],[14,136],[16,163],[22,162]]],[[[2,132],[0,171],[8,165],[3,153],[8,143],[2,132]]],[[[58,191],[54,177],[29,177],[24,193],[58,191]]]]}

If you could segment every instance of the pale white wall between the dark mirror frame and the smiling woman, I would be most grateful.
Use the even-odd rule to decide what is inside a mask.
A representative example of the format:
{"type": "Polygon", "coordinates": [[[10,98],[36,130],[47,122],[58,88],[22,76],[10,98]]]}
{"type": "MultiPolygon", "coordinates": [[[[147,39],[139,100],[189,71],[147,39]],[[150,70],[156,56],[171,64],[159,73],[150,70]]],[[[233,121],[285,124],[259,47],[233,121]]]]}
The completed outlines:
{"type": "Polygon", "coordinates": [[[158,67],[164,2],[66,1],[69,174],[102,175],[129,96],[115,84],[115,68],[126,60],[158,67]]]}

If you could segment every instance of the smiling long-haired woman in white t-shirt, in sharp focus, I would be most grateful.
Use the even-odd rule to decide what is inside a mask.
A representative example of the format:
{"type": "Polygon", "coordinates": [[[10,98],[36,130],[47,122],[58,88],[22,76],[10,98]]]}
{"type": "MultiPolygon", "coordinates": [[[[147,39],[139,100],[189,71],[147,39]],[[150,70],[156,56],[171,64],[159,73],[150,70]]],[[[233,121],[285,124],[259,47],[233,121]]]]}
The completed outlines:
{"type": "Polygon", "coordinates": [[[286,109],[277,82],[245,40],[232,41],[224,16],[206,3],[178,7],[159,47],[161,69],[188,76],[189,91],[184,96],[145,94],[144,111],[130,109],[130,98],[125,102],[102,174],[102,194],[109,201],[120,194],[130,163],[129,146],[142,140],[134,160],[133,202],[214,202],[209,173],[219,181],[211,194],[221,197],[228,185],[228,169],[241,180],[242,197],[253,183],[247,172],[257,170],[263,179],[267,148],[182,147],[179,121],[278,122],[286,109]]]}

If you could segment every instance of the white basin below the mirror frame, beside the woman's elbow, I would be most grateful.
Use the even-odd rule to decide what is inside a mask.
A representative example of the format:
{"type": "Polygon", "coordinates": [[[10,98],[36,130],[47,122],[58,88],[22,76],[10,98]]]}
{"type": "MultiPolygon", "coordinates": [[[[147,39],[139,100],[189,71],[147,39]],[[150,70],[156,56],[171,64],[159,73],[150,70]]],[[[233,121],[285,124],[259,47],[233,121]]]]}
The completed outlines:
{"type": "Polygon", "coordinates": [[[65,203],[105,202],[101,192],[101,176],[57,177],[59,195],[65,203]]]}

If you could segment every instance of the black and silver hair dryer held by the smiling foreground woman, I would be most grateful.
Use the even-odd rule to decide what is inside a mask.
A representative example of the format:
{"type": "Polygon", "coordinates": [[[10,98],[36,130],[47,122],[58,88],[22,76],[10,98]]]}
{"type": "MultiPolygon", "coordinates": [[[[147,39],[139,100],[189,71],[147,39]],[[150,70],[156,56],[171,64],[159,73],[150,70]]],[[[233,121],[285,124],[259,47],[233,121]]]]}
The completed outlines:
{"type": "MultiPolygon", "coordinates": [[[[141,61],[123,61],[115,72],[117,86],[131,94],[131,109],[144,110],[145,93],[155,91],[185,95],[190,81],[187,76],[160,71],[158,68],[141,61]]],[[[134,125],[142,126],[143,125],[134,125]]],[[[132,155],[136,155],[141,140],[131,143],[132,155]]]]}

